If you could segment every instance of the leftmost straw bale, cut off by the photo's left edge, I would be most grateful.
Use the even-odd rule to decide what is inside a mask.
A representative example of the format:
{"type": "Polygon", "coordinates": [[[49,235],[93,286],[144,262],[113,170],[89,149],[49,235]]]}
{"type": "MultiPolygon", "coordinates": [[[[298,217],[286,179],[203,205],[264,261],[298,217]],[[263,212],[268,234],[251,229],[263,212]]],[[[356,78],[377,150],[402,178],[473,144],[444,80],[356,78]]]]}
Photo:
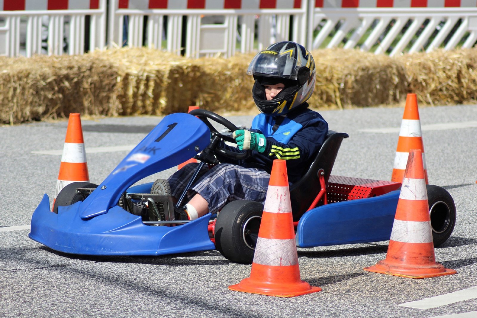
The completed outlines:
{"type": "Polygon", "coordinates": [[[117,70],[108,61],[79,56],[0,59],[0,120],[112,115],[108,105],[117,70]]]}

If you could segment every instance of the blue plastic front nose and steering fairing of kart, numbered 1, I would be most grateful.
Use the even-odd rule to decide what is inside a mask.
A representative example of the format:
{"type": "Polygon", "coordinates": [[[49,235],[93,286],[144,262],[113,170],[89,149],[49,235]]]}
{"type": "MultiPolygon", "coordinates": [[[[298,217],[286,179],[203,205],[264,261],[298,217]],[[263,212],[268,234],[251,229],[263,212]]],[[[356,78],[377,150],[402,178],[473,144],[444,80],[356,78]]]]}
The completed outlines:
{"type": "MultiPolygon", "coordinates": [[[[45,194],[31,217],[29,237],[72,254],[160,255],[214,249],[207,231],[210,214],[181,226],[148,226],[141,216],[117,205],[135,182],[194,157],[209,141],[210,130],[197,117],[166,116],[84,201],[60,206],[56,214],[45,194]]],[[[150,189],[148,184],[129,191],[150,189]]]]}

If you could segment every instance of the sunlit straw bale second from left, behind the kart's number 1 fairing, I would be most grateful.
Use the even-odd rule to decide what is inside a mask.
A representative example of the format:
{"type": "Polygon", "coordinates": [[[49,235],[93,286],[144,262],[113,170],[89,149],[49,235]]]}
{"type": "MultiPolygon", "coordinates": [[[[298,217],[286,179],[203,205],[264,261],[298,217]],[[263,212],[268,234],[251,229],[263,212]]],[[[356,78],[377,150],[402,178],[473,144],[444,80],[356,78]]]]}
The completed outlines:
{"type": "Polygon", "coordinates": [[[194,94],[186,89],[193,87],[197,67],[182,56],[147,48],[114,48],[87,55],[106,59],[117,69],[111,93],[118,100],[118,115],[167,114],[177,111],[177,104],[186,104],[187,109],[185,101],[194,94]]]}

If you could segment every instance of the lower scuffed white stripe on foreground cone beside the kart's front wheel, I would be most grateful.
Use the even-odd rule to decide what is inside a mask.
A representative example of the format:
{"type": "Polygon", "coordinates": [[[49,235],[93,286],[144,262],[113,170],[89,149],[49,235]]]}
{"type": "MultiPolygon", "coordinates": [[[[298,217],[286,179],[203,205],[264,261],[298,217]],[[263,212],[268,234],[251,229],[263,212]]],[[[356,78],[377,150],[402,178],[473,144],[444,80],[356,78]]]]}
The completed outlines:
{"type": "Polygon", "coordinates": [[[298,264],[295,239],[267,239],[258,237],[253,263],[269,266],[298,264]]]}

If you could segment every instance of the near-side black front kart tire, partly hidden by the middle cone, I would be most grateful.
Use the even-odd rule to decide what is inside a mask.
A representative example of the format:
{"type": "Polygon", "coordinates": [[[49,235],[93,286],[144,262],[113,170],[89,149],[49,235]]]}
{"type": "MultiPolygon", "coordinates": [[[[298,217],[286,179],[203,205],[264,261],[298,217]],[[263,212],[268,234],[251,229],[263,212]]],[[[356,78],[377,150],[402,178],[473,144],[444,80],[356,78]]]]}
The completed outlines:
{"type": "Polygon", "coordinates": [[[252,264],[262,219],[263,204],[232,201],[217,216],[216,248],[230,262],[252,264]]]}

